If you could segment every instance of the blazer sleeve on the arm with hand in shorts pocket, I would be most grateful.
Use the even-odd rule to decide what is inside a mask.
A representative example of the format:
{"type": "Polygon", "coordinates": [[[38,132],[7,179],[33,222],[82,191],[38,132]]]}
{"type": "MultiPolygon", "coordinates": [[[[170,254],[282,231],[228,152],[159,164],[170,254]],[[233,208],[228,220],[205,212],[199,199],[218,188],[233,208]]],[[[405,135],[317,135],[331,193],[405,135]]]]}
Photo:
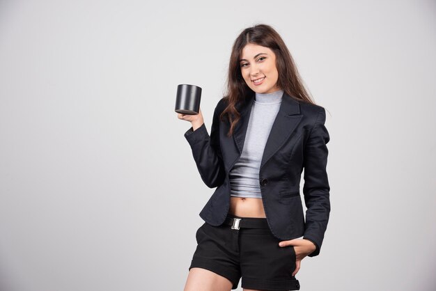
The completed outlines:
{"type": "Polygon", "coordinates": [[[326,144],[329,142],[329,132],[325,127],[325,109],[318,112],[309,138],[304,147],[304,202],[306,203],[306,228],[304,239],[316,244],[316,250],[309,256],[320,253],[322,239],[327,229],[330,213],[329,180],[327,177],[326,144]]]}

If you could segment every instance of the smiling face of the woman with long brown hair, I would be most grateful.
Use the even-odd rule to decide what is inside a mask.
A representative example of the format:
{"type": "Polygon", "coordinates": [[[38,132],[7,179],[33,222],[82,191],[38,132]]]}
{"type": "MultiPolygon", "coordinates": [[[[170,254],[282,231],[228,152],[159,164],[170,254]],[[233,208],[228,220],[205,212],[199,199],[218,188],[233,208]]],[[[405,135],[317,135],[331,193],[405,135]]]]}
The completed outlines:
{"type": "Polygon", "coordinates": [[[249,43],[242,49],[240,68],[245,83],[256,93],[272,93],[277,85],[279,72],[276,55],[268,47],[249,43]]]}

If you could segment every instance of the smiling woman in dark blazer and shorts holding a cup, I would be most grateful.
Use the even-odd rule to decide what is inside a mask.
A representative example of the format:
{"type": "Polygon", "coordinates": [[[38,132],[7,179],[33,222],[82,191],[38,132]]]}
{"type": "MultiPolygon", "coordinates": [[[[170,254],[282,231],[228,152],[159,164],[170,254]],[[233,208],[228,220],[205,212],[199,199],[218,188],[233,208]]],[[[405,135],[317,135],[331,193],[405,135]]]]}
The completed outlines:
{"type": "Polygon", "coordinates": [[[192,123],[185,138],[217,187],[200,212],[185,291],[236,289],[241,276],[244,291],[299,290],[295,274],[320,252],[329,219],[329,133],[279,34],[259,24],[236,38],[210,136],[201,110],[178,118],[192,123]]]}

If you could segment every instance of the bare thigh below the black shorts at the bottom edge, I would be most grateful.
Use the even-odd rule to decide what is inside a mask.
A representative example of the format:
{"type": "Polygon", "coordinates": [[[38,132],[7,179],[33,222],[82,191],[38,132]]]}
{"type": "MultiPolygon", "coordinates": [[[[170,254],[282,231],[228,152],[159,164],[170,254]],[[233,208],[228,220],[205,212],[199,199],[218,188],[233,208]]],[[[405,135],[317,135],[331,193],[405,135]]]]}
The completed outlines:
{"type": "Polygon", "coordinates": [[[189,270],[184,291],[230,291],[232,286],[228,278],[208,269],[194,267],[189,270]]]}

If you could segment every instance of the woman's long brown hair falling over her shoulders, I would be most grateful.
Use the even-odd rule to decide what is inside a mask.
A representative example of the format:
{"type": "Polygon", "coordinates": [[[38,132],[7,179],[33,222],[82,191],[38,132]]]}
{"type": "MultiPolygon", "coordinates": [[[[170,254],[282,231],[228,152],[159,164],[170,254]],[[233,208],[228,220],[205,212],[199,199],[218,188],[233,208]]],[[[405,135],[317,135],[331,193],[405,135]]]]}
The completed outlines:
{"type": "Polygon", "coordinates": [[[254,93],[249,86],[247,86],[247,83],[245,83],[240,69],[240,55],[242,54],[242,49],[249,43],[268,47],[274,52],[276,55],[277,71],[279,72],[277,85],[281,90],[296,100],[315,104],[311,95],[309,95],[306,88],[304,88],[303,81],[297,71],[293,57],[290,55],[288,47],[286,47],[279,33],[269,25],[257,24],[248,29],[244,29],[233,44],[227,75],[226,100],[228,105],[219,116],[219,118],[223,120],[226,115],[231,123],[227,136],[233,134],[235,125],[240,120],[240,113],[235,105],[238,104],[238,102],[243,102],[247,96],[254,93]]]}

